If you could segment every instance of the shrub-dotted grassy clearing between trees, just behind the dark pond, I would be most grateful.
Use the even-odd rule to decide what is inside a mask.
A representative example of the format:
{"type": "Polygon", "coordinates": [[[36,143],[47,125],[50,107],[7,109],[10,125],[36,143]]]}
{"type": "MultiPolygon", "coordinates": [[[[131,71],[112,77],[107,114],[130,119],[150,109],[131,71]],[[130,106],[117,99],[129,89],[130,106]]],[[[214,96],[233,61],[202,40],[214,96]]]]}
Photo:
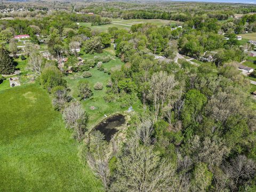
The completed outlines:
{"type": "MultiPolygon", "coordinates": [[[[110,50],[110,49],[109,49],[110,50]]],[[[108,50],[104,51],[103,53],[95,53],[95,54],[84,54],[81,57],[83,59],[93,59],[94,56],[96,55],[111,55],[108,50]]],[[[121,67],[124,65],[124,63],[119,59],[119,58],[114,58],[110,60],[107,63],[103,63],[103,67],[107,68],[108,70],[119,70],[121,67]]],[[[78,82],[81,79],[86,79],[89,82],[89,86],[93,92],[93,96],[85,101],[82,101],[82,104],[89,114],[89,126],[95,124],[96,122],[99,122],[101,118],[104,117],[104,115],[110,115],[113,113],[116,113],[117,111],[123,111],[127,109],[122,109],[117,102],[110,102],[107,103],[103,97],[106,95],[107,91],[107,83],[110,79],[110,76],[107,73],[104,73],[103,71],[97,70],[97,67],[94,67],[89,70],[92,74],[92,77],[89,78],[83,78],[82,73],[75,73],[72,75],[69,75],[66,77],[68,86],[71,89],[71,94],[73,95],[74,98],[77,98],[78,95],[78,90],[77,90],[77,85],[78,82]],[[103,83],[103,90],[94,90],[93,86],[95,83],[101,82],[103,83]],[[95,109],[92,110],[90,109],[91,106],[94,106],[95,109]]]]}

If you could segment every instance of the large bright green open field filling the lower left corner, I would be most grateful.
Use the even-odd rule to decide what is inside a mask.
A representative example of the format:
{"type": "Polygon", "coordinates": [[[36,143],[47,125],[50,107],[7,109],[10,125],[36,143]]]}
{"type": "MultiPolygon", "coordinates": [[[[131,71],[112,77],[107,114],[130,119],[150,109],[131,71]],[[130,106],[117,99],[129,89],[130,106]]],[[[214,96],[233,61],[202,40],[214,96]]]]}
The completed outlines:
{"type": "Polygon", "coordinates": [[[0,91],[0,191],[101,191],[37,84],[0,91]]]}

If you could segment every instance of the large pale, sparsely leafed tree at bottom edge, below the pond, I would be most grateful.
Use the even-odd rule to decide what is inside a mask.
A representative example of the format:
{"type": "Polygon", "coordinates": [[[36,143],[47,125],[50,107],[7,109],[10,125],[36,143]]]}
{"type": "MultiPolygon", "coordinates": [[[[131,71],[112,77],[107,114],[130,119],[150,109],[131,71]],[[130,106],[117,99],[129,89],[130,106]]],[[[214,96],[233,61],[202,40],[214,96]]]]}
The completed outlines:
{"type": "Polygon", "coordinates": [[[139,129],[127,142],[124,155],[117,159],[110,191],[173,191],[177,188],[174,166],[148,145],[149,130],[139,129]]]}

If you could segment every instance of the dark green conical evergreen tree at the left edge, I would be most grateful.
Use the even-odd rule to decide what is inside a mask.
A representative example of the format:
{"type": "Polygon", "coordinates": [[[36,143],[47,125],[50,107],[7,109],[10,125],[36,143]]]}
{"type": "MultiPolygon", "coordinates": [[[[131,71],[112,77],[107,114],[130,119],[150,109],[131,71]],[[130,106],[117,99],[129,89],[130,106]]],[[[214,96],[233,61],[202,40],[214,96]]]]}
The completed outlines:
{"type": "Polygon", "coordinates": [[[14,73],[13,58],[9,56],[9,52],[3,47],[0,49],[0,74],[12,74],[14,73]]]}

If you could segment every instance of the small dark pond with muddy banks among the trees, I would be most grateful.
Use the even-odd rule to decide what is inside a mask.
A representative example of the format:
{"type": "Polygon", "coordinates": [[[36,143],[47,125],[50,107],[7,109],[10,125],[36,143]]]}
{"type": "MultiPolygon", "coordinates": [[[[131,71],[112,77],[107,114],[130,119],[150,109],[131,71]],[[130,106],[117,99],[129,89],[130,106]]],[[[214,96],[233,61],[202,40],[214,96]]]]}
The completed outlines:
{"type": "Polygon", "coordinates": [[[125,123],[125,117],[121,114],[111,116],[95,126],[95,130],[100,131],[105,135],[105,140],[110,141],[112,136],[118,132],[116,127],[125,123]]]}

